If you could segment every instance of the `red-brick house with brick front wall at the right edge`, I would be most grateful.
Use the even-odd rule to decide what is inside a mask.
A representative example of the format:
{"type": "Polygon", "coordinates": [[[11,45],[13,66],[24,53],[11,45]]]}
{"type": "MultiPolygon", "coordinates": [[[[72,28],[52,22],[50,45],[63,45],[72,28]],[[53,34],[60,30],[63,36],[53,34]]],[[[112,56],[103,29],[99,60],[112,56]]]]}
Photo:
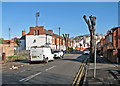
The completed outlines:
{"type": "Polygon", "coordinates": [[[103,56],[111,62],[120,63],[120,27],[110,29],[100,42],[103,56]]]}

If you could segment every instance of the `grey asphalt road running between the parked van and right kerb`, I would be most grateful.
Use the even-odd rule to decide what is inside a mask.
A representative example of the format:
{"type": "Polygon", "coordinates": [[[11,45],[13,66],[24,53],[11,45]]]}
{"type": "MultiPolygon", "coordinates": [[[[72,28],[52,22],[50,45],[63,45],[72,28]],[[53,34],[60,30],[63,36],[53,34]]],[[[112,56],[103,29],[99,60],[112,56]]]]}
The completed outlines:
{"type": "Polygon", "coordinates": [[[71,85],[79,67],[88,55],[68,54],[63,59],[21,66],[2,72],[3,84],[66,84],[71,85]]]}

